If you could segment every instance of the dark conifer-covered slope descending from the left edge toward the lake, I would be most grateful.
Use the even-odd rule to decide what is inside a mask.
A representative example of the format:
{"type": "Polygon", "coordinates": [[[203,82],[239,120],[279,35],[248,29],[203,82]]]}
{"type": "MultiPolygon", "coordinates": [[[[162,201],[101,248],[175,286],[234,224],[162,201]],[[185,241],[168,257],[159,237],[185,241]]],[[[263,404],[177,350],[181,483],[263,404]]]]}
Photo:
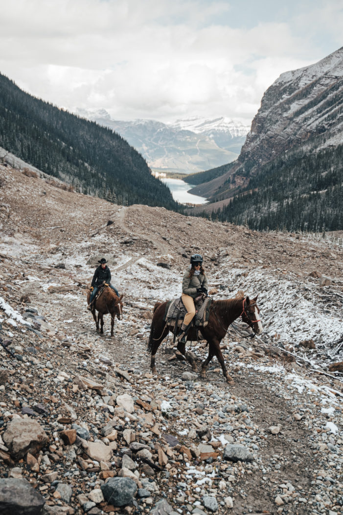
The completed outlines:
{"type": "Polygon", "coordinates": [[[182,211],[119,134],[25,93],[2,74],[0,146],[75,191],[182,211]]]}

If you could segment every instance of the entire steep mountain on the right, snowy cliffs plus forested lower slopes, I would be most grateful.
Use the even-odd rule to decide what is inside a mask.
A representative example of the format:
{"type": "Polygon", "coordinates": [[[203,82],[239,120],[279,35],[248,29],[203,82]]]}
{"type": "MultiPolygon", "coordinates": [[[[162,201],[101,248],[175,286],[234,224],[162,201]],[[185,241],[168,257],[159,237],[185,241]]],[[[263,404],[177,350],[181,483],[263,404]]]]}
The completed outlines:
{"type": "Polygon", "coordinates": [[[283,73],[264,93],[237,161],[207,171],[191,192],[214,211],[235,197],[225,219],[253,228],[341,229],[342,99],[343,47],[283,73]]]}

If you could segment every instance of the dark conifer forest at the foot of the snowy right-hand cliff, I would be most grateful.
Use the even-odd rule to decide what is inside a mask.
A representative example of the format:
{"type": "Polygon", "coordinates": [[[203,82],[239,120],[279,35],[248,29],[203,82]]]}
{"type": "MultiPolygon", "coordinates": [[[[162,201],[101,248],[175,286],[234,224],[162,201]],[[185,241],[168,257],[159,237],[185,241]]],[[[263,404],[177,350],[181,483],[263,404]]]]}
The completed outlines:
{"type": "MultiPolygon", "coordinates": [[[[283,155],[212,219],[256,230],[335,231],[343,228],[343,145],[283,155]]],[[[206,213],[202,213],[206,216],[206,213]]]]}

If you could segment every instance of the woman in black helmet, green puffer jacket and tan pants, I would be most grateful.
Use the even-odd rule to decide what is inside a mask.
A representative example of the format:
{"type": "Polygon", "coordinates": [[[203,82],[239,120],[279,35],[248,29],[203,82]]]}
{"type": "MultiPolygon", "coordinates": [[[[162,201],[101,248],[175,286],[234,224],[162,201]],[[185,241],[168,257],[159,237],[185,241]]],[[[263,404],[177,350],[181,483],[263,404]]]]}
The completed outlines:
{"type": "Polygon", "coordinates": [[[190,266],[186,270],[182,280],[182,295],[181,300],[187,310],[183,319],[178,340],[181,343],[186,343],[187,331],[195,316],[194,299],[200,294],[207,295],[207,279],[205,270],[202,267],[202,256],[200,254],[193,254],[190,257],[190,266]]]}

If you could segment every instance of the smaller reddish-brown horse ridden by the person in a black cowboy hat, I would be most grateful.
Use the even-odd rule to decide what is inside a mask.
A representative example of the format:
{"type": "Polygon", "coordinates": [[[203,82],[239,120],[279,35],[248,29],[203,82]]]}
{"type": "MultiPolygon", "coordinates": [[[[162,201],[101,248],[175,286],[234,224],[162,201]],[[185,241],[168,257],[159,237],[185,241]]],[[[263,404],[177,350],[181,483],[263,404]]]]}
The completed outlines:
{"type": "MultiPolygon", "coordinates": [[[[92,304],[92,315],[97,325],[97,331],[99,331],[99,320],[101,322],[100,333],[104,333],[104,315],[109,313],[111,315],[111,336],[113,336],[113,327],[115,325],[115,317],[117,315],[118,320],[123,316],[123,296],[118,297],[112,288],[104,286],[99,297],[92,304]],[[98,311],[98,318],[96,311],[98,311]]],[[[87,304],[89,305],[90,291],[87,294],[87,304]]]]}

